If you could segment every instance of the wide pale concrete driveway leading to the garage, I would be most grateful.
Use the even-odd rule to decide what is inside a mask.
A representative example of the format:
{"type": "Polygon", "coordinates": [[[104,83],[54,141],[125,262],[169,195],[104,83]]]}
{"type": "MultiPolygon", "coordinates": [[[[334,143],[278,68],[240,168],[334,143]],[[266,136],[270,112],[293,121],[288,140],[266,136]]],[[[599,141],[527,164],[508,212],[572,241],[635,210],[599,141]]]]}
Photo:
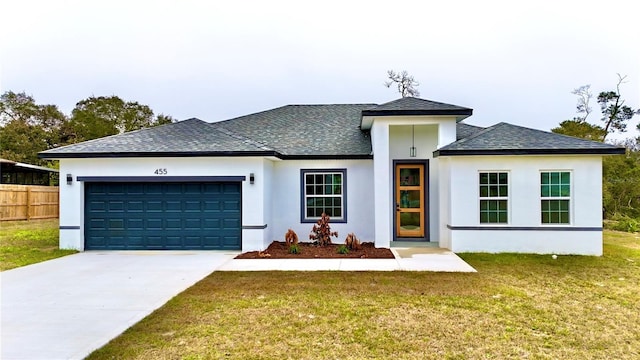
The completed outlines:
{"type": "Polygon", "coordinates": [[[82,359],[237,253],[84,252],[0,273],[0,358],[82,359]]]}

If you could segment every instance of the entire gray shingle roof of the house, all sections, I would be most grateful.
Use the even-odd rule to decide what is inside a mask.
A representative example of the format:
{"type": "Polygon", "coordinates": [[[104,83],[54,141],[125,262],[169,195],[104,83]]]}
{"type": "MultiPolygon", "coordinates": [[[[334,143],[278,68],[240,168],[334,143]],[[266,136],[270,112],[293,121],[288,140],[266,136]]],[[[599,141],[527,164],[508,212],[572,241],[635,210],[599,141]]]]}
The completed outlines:
{"type": "MultiPolygon", "coordinates": [[[[471,111],[415,98],[382,105],[287,105],[217,123],[189,119],[47,150],[40,156],[50,159],[126,156],[366,159],[372,157],[372,152],[370,134],[360,128],[363,114],[398,109],[471,111]]],[[[505,123],[486,129],[458,123],[457,140],[434,155],[624,152],[624,149],[608,144],[505,123]]]]}

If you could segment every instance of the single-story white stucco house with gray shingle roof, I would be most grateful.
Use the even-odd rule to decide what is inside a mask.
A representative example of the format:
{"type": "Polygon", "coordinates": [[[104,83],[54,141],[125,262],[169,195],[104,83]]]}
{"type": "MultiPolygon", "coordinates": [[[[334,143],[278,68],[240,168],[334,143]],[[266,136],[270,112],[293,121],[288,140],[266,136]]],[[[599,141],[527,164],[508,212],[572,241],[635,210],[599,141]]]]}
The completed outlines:
{"type": "Polygon", "coordinates": [[[602,156],[624,149],[405,97],[189,119],[60,160],[60,247],[265,249],[324,212],[377,247],[602,254],[602,156]]]}

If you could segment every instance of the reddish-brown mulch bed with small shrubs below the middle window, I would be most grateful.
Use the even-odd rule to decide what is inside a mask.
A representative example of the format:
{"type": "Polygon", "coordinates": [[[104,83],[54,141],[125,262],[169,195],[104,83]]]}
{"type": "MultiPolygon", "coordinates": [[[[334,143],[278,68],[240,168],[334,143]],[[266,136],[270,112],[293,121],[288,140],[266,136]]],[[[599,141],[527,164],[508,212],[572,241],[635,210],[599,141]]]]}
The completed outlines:
{"type": "Polygon", "coordinates": [[[360,250],[349,250],[348,254],[338,254],[338,246],[316,246],[313,243],[298,243],[300,253],[290,254],[287,244],[274,241],[265,251],[250,251],[236,256],[236,259],[393,259],[393,253],[386,248],[377,248],[373,243],[362,243],[360,250]]]}

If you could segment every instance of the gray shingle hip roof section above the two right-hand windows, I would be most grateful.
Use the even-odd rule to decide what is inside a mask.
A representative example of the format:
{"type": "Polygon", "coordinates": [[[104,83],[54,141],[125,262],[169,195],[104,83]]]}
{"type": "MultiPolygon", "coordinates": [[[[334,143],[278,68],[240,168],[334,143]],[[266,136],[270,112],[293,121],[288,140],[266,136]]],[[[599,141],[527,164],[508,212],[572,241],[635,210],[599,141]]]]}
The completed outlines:
{"type": "Polygon", "coordinates": [[[499,123],[434,152],[434,156],[535,154],[624,154],[624,148],[499,123]]]}

